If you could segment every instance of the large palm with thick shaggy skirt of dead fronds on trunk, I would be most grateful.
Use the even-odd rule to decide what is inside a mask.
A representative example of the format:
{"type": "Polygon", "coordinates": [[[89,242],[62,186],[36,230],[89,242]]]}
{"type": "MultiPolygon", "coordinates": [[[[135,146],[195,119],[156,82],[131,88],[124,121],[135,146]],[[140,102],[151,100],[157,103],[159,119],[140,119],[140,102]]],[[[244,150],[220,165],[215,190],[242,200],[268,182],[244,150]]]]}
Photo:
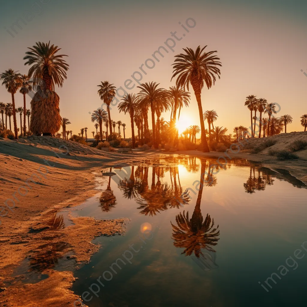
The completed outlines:
{"type": "Polygon", "coordinates": [[[68,64],[63,60],[65,54],[57,54],[58,46],[38,42],[23,58],[25,65],[32,65],[28,76],[33,77],[33,87],[37,88],[31,100],[30,130],[35,134],[52,135],[60,129],[60,97],[54,91],[55,84],[63,86],[67,79],[68,64]]]}

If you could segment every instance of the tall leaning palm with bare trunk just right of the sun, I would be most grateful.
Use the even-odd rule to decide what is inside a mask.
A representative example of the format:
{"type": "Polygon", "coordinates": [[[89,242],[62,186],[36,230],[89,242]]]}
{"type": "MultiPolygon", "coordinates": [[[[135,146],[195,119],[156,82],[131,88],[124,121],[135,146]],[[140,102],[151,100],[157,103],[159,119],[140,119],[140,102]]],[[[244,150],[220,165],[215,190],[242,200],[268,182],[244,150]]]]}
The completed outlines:
{"type": "Polygon", "coordinates": [[[200,49],[197,47],[194,52],[191,48],[183,49],[186,54],[179,54],[175,57],[177,58],[173,64],[173,76],[172,79],[177,76],[176,85],[183,87],[185,86],[189,90],[189,83],[191,83],[199,110],[200,117],[200,130],[201,130],[201,143],[203,147],[203,152],[209,152],[208,142],[205,134],[205,126],[203,121],[203,108],[201,105],[201,90],[204,87],[204,82],[206,83],[208,89],[215,84],[216,76],[220,79],[220,68],[222,64],[218,61],[216,55],[213,55],[217,51],[202,52],[204,48],[200,49]]]}

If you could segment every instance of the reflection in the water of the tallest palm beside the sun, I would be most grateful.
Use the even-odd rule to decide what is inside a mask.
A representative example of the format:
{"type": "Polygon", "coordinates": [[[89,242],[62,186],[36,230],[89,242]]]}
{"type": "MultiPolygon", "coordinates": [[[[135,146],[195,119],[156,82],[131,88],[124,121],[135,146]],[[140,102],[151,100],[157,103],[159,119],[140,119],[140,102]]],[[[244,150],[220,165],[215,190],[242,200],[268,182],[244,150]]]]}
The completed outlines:
{"type": "Polygon", "coordinates": [[[200,187],[192,218],[189,219],[188,212],[186,215],[185,212],[183,212],[183,214],[180,213],[176,216],[177,226],[173,225],[171,222],[173,227],[174,246],[185,248],[182,254],[186,256],[190,256],[194,252],[197,258],[199,258],[200,255],[203,256],[201,249],[215,252],[212,246],[217,244],[219,240],[217,237],[220,235],[220,231],[217,231],[219,225],[217,228],[213,228],[214,220],[212,219],[211,221],[211,217],[208,214],[204,220],[200,210],[205,169],[206,160],[201,160],[200,187]]]}

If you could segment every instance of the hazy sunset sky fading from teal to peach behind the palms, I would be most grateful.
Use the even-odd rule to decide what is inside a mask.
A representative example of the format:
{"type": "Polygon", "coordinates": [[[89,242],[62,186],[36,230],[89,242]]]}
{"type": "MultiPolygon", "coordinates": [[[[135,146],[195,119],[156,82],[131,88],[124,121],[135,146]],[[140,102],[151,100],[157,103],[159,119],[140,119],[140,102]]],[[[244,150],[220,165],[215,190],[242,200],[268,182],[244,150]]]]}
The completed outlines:
{"type": "MultiPolygon", "coordinates": [[[[174,56],[182,48],[198,45],[207,45],[206,51],[217,50],[222,63],[220,80],[209,90],[203,88],[201,96],[203,111],[214,109],[219,116],[215,126],[227,127],[227,134],[233,134],[235,126],[249,127],[245,97],[256,95],[278,103],[277,116],[293,117],[287,132],[303,130],[300,116],[307,113],[306,1],[0,1],[0,72],[12,68],[27,74],[29,66],[24,65],[23,56],[37,41],[62,48],[69,70],[63,87],[55,91],[60,96],[60,114],[71,121],[67,129],[74,134],[87,127],[89,137],[95,130],[89,113],[101,107],[97,94],[101,81],[125,88],[130,79],[133,82],[126,81],[126,85],[135,86],[125,88],[126,92],[136,93],[138,84],[131,75],[140,79],[134,73],[138,71],[141,82],[154,81],[169,89],[176,81],[171,81],[174,56]],[[19,21],[22,29],[14,26],[14,32],[11,26],[18,18],[26,24],[19,21]],[[175,31],[180,40],[171,36],[175,31]],[[164,57],[156,54],[157,61],[152,54],[160,46],[168,52],[161,49],[164,57]]],[[[190,105],[181,110],[179,132],[189,125],[200,126],[192,87],[190,91],[190,105]]],[[[30,100],[27,96],[28,108],[30,100]]],[[[4,86],[0,86],[0,101],[11,102],[4,86]]],[[[15,102],[23,106],[21,94],[15,95],[15,102]]],[[[169,121],[170,112],[162,117],[169,121]]],[[[126,137],[131,136],[130,117],[119,113],[116,105],[111,106],[111,119],[126,123],[126,137]]]]}

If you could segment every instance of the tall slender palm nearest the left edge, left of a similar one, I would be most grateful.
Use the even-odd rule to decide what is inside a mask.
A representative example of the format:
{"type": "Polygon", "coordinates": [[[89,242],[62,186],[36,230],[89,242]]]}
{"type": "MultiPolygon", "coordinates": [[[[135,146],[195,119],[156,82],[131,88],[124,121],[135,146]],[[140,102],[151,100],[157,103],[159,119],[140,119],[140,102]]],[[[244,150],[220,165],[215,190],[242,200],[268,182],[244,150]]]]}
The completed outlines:
{"type": "Polygon", "coordinates": [[[2,85],[5,85],[5,88],[12,96],[12,107],[13,107],[13,123],[14,123],[14,133],[15,139],[18,138],[17,135],[17,121],[16,121],[16,108],[15,108],[15,98],[14,95],[16,94],[17,90],[21,87],[21,75],[18,71],[14,71],[13,69],[8,69],[5,72],[0,74],[0,80],[2,81],[2,85]]]}

